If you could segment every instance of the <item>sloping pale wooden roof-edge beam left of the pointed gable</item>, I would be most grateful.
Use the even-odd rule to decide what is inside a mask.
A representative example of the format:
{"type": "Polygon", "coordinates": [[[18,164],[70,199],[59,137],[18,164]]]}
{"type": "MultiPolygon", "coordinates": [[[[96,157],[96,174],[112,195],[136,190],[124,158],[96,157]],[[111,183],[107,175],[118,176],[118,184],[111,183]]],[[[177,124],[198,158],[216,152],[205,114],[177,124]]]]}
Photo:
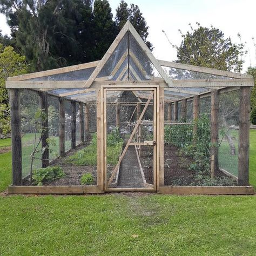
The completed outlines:
{"type": "Polygon", "coordinates": [[[32,78],[58,75],[58,74],[71,72],[71,71],[77,71],[77,70],[81,70],[81,69],[89,69],[89,68],[96,67],[99,62],[100,62],[100,60],[97,60],[95,62],[88,62],[88,63],[84,63],[84,64],[66,66],[64,68],[59,68],[59,69],[51,69],[51,70],[29,73],[29,74],[15,76],[15,77],[8,77],[7,80],[8,81],[21,81],[21,80],[32,79],[32,78]]]}

